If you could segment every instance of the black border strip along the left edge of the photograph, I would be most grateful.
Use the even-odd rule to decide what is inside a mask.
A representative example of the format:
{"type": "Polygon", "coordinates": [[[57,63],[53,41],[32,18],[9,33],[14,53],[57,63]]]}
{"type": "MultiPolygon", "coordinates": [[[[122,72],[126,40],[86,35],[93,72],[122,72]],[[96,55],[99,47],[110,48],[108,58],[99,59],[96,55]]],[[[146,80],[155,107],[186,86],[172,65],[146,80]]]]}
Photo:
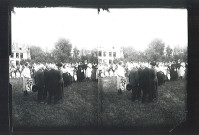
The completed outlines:
{"type": "Polygon", "coordinates": [[[0,2],[0,129],[8,128],[8,1],[0,2]]]}

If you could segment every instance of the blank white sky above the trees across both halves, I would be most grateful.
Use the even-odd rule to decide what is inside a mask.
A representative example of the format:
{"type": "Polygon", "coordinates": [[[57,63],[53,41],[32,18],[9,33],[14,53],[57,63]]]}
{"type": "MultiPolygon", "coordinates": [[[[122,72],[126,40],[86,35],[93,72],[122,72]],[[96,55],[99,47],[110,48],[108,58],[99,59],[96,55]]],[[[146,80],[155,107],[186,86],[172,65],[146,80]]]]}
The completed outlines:
{"type": "Polygon", "coordinates": [[[186,47],[186,9],[15,8],[12,42],[54,48],[59,39],[79,49],[97,46],[133,46],[145,50],[154,39],[186,47]]]}

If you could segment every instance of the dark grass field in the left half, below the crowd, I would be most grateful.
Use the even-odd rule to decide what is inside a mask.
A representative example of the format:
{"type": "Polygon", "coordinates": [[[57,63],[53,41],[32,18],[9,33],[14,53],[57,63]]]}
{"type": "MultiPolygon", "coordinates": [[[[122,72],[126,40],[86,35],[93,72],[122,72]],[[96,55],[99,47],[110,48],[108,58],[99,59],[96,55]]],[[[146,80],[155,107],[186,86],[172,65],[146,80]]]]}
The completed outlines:
{"type": "Polygon", "coordinates": [[[10,80],[13,127],[90,127],[97,125],[97,82],[73,83],[64,89],[64,101],[47,105],[37,103],[37,92],[26,98],[22,80],[10,80]]]}

